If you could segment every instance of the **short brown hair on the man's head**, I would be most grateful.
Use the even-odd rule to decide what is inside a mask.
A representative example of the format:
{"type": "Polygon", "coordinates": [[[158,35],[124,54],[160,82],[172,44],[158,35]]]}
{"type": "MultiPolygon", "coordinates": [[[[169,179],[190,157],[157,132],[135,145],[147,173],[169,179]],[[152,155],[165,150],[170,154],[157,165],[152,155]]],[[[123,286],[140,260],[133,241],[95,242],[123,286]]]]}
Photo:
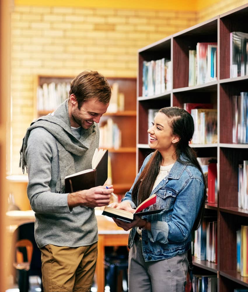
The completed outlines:
{"type": "Polygon", "coordinates": [[[83,102],[90,98],[97,98],[99,102],[107,104],[111,97],[111,87],[102,74],[85,70],[71,81],[69,96],[71,94],[75,95],[80,109],[83,102]]]}

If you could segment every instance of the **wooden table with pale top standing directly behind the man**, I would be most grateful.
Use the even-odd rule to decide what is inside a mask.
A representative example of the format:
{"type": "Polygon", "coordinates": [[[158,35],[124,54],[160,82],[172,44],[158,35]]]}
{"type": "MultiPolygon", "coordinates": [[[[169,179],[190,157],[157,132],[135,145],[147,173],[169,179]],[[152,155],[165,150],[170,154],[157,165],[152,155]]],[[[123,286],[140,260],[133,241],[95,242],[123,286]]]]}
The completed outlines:
{"type": "MultiPolygon", "coordinates": [[[[104,247],[105,246],[126,246],[128,244],[129,231],[124,231],[118,227],[111,218],[99,215],[102,213],[96,210],[98,225],[98,258],[96,265],[97,292],[104,292],[105,289],[105,273],[104,273],[104,247]]],[[[18,225],[34,222],[33,211],[10,211],[7,212],[9,219],[10,231],[18,227],[18,225]]]]}

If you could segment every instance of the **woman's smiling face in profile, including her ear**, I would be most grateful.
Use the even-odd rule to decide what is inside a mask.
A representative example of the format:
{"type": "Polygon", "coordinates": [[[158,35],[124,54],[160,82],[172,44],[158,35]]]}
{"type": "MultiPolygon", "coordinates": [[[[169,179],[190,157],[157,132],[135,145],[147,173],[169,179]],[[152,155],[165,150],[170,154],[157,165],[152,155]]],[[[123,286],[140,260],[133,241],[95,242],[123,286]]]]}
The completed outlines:
{"type": "Polygon", "coordinates": [[[178,142],[178,138],[172,134],[168,121],[169,118],[162,112],[156,114],[154,124],[148,129],[150,148],[158,149],[160,152],[174,148],[174,143],[178,142]]]}

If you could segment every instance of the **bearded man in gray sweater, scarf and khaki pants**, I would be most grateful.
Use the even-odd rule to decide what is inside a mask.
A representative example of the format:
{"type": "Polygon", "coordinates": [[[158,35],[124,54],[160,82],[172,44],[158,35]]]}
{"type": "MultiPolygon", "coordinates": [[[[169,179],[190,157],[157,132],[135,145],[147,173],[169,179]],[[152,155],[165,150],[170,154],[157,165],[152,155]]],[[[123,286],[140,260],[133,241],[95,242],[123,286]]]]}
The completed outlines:
{"type": "Polygon", "coordinates": [[[106,78],[84,71],[71,82],[69,99],[34,121],[23,139],[20,165],[28,170],[45,292],[90,291],[92,286],[98,239],[94,207],[108,205],[113,188],[64,194],[64,178],[92,168],[97,123],[110,97],[106,78]]]}

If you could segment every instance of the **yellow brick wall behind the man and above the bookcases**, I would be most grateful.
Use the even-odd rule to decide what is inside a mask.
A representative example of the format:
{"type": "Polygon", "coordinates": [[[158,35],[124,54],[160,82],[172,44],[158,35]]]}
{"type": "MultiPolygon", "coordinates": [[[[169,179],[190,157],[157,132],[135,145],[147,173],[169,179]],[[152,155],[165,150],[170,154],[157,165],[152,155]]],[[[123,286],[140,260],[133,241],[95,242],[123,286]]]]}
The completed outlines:
{"type": "Polygon", "coordinates": [[[19,150],[33,119],[37,74],[75,76],[92,69],[107,77],[136,77],[139,48],[245,2],[220,1],[200,11],[15,5],[9,173],[21,174],[19,150]]]}

